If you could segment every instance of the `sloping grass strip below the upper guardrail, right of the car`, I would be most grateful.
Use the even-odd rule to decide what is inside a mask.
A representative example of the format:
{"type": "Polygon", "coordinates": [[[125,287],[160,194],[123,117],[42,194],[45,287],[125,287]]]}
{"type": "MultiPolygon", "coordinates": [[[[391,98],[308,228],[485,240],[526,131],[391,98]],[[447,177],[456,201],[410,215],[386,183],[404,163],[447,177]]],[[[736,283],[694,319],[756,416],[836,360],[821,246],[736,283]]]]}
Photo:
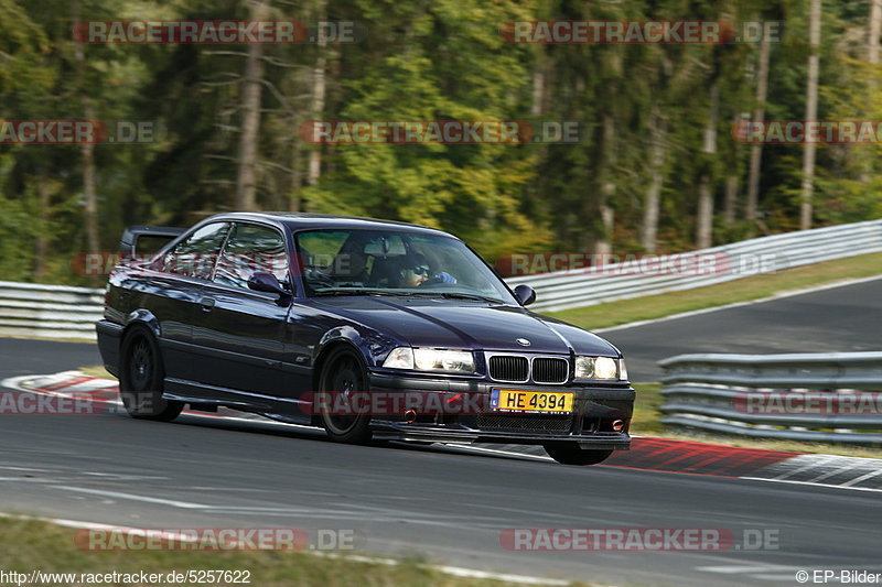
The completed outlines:
{"type": "Polygon", "coordinates": [[[750,302],[848,279],[879,275],[881,267],[882,253],[861,254],[707,287],[564,309],[549,315],[582,328],[607,328],[631,322],[662,318],[682,312],[750,302]]]}

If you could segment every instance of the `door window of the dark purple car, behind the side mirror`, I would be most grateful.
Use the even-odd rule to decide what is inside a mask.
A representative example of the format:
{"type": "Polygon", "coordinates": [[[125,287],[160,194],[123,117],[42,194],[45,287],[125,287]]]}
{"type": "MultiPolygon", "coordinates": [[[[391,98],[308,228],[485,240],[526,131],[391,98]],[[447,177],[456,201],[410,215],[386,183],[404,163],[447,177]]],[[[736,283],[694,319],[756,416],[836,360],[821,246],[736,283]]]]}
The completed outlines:
{"type": "Polygon", "coordinates": [[[271,273],[288,282],[284,238],[266,226],[237,224],[217,261],[214,281],[247,290],[255,273],[271,273]]]}

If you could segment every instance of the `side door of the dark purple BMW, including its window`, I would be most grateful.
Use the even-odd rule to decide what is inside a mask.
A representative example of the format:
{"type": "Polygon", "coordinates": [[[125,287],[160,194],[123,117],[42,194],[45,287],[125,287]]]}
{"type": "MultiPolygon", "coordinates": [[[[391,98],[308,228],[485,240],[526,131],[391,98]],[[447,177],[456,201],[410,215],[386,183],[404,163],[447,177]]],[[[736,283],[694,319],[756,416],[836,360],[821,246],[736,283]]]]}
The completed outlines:
{"type": "Polygon", "coordinates": [[[276,227],[236,222],[203,287],[193,341],[206,366],[202,381],[217,388],[215,396],[262,404],[288,393],[281,363],[291,297],[248,289],[258,272],[290,283],[286,242],[276,227]]]}

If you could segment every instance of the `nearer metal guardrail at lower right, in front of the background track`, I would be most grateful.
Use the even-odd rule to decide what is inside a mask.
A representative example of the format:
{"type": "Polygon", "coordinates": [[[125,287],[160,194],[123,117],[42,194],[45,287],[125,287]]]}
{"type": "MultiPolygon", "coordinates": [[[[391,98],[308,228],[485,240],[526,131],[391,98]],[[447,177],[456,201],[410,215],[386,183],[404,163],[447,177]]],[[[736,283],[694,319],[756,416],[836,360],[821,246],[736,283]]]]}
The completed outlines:
{"type": "Polygon", "coordinates": [[[664,424],[757,438],[882,444],[882,352],[679,355],[664,424]]]}

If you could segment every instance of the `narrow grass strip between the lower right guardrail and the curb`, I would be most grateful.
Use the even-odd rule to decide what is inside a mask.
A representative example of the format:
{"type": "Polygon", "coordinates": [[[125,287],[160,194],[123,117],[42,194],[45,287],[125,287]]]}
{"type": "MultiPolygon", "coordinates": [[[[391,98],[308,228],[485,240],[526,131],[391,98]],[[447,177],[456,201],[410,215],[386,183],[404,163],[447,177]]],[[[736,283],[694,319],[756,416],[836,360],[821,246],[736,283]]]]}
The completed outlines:
{"type": "Polygon", "coordinates": [[[761,438],[744,438],[741,436],[674,432],[660,422],[664,414],[659,412],[658,409],[665,401],[660,393],[662,385],[659,383],[637,383],[634,388],[637,390],[637,400],[634,403],[634,420],[631,425],[631,434],[636,436],[657,436],[676,441],[693,441],[724,446],[763,448],[765,450],[793,450],[795,453],[819,453],[847,457],[882,458],[882,449],[880,448],[830,443],[764,441],[761,438]]]}

